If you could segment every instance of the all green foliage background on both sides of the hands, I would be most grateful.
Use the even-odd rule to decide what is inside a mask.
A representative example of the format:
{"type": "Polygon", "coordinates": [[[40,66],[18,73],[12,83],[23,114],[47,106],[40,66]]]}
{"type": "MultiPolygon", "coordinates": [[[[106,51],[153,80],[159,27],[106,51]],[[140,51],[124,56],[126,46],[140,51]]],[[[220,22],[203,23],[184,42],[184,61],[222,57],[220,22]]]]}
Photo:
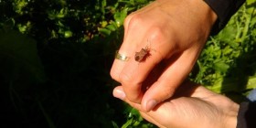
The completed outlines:
{"type": "MultiPolygon", "coordinates": [[[[155,127],[112,98],[123,19],[149,0],[0,0],[0,127],[155,127]]],[[[243,101],[256,87],[256,2],[210,37],[190,79],[243,101]]]]}

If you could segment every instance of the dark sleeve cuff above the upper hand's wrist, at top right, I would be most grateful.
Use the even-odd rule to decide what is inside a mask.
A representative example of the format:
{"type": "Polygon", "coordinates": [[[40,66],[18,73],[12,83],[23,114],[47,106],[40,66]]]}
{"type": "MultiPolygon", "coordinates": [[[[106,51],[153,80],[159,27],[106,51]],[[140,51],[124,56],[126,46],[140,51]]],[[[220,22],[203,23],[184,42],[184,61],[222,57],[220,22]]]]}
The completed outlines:
{"type": "Polygon", "coordinates": [[[204,0],[216,13],[218,19],[212,27],[211,34],[216,35],[227,25],[231,16],[233,16],[245,2],[245,0],[204,0]]]}

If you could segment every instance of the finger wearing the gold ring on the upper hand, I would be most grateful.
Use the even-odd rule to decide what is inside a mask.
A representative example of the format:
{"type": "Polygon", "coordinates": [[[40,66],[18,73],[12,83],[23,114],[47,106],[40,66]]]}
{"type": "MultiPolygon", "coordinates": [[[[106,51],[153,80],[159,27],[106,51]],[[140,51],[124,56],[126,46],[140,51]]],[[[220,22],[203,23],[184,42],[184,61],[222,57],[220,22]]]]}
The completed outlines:
{"type": "MultiPolygon", "coordinates": [[[[144,10],[144,9],[143,9],[144,10]]],[[[119,49],[119,53],[133,59],[137,47],[142,48],[144,46],[144,35],[146,34],[145,27],[139,27],[141,25],[140,11],[136,11],[124,20],[124,36],[123,44],[119,49]],[[143,43],[143,44],[141,44],[143,43]],[[139,45],[141,44],[141,45],[139,45]],[[138,46],[139,45],[139,46],[138,46]]],[[[123,67],[126,65],[127,61],[122,61],[119,59],[114,59],[111,69],[111,76],[113,80],[120,81],[120,73],[123,67]]]]}

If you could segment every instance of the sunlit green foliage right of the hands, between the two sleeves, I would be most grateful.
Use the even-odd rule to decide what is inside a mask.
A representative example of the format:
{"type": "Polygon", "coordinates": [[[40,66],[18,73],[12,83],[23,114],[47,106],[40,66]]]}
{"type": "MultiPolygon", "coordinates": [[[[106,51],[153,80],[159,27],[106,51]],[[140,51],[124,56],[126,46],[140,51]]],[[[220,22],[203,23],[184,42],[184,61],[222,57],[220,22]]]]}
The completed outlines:
{"type": "Polygon", "coordinates": [[[219,35],[209,38],[191,75],[193,80],[225,94],[243,96],[256,88],[251,83],[256,76],[255,4],[247,1],[219,35]]]}

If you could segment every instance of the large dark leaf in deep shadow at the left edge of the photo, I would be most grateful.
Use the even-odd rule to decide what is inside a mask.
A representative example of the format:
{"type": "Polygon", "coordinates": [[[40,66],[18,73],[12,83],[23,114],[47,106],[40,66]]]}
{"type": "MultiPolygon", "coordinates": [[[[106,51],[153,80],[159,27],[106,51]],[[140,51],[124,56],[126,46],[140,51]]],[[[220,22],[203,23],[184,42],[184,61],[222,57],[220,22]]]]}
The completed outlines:
{"type": "Polygon", "coordinates": [[[5,80],[44,81],[37,42],[14,30],[0,30],[0,75],[5,80]]]}

